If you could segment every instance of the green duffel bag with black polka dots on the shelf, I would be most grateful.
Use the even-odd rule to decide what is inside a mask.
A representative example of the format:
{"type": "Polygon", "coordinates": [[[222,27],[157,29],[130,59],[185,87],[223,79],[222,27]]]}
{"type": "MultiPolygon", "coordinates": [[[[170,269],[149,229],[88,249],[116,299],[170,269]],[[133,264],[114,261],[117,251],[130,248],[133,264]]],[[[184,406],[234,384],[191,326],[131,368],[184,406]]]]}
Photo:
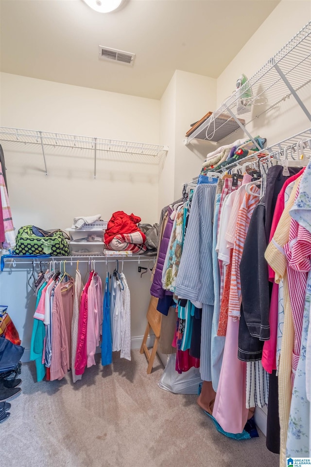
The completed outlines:
{"type": "Polygon", "coordinates": [[[33,225],[25,225],[18,229],[14,252],[20,255],[69,256],[69,246],[65,234],[61,230],[47,232],[33,225]]]}

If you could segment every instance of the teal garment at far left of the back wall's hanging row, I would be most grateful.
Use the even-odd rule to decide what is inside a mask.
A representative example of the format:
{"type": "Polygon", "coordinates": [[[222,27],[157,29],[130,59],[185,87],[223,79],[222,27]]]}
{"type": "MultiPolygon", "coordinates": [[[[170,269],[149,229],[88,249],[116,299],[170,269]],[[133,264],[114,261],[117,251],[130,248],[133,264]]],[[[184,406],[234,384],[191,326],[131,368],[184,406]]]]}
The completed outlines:
{"type": "MultiPolygon", "coordinates": [[[[38,306],[41,298],[41,293],[47,282],[44,282],[38,290],[35,308],[38,306]]],[[[33,333],[30,343],[30,359],[35,360],[35,368],[37,372],[37,381],[42,381],[45,377],[45,365],[42,363],[43,343],[45,337],[45,326],[43,321],[34,319],[33,333]]]]}

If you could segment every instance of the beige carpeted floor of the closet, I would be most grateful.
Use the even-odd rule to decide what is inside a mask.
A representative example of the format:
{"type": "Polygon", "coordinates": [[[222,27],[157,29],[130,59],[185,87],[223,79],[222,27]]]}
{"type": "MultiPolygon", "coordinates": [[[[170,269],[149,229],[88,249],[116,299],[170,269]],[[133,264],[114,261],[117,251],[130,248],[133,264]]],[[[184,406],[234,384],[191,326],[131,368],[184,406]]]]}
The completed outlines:
{"type": "Polygon", "coordinates": [[[265,437],[234,441],[218,433],[195,395],[157,386],[138,350],[132,361],[114,354],[81,381],[35,382],[35,364],[23,364],[22,393],[0,425],[0,460],[8,467],[277,467],[265,437]]]}

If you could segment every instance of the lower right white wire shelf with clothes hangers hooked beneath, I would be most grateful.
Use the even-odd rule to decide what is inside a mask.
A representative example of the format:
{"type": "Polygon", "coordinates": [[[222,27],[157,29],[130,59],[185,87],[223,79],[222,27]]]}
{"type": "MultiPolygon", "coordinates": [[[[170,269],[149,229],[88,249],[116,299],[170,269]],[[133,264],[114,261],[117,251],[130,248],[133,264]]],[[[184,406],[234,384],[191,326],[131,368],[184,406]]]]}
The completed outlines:
{"type": "Polygon", "coordinates": [[[275,157],[278,160],[287,158],[288,160],[298,161],[302,154],[304,154],[304,156],[306,156],[308,159],[311,159],[311,128],[307,128],[306,130],[301,131],[300,133],[297,133],[290,138],[286,138],[276,144],[272,144],[271,146],[262,149],[258,153],[246,156],[237,162],[233,162],[232,164],[225,165],[216,172],[227,172],[234,167],[242,167],[244,163],[256,162],[259,160],[259,153],[269,154],[271,157],[275,157]]]}

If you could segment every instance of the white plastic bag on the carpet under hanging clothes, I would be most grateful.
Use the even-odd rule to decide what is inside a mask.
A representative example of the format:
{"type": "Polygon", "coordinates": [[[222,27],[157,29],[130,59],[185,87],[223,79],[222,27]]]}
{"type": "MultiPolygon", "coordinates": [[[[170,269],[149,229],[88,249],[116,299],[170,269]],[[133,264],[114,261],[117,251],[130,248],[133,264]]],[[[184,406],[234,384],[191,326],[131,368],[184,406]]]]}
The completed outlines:
{"type": "Polygon", "coordinates": [[[175,370],[175,365],[176,354],[172,354],[158,382],[159,388],[175,394],[198,394],[199,384],[202,382],[199,368],[192,367],[179,374],[175,370]]]}

